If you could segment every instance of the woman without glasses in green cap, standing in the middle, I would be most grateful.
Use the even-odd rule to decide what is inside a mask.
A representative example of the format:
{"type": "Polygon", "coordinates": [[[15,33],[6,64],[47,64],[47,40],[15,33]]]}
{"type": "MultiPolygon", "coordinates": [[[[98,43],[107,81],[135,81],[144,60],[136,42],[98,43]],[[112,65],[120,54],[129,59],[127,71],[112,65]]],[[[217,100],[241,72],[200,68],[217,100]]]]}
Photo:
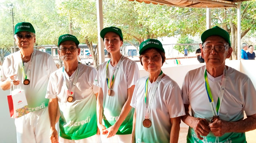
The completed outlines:
{"type": "Polygon", "coordinates": [[[130,103],[139,78],[138,66],[120,52],[121,29],[107,27],[100,35],[110,57],[100,65],[94,82],[99,87],[97,117],[101,140],[104,143],[129,142],[134,113],[130,103]]]}

